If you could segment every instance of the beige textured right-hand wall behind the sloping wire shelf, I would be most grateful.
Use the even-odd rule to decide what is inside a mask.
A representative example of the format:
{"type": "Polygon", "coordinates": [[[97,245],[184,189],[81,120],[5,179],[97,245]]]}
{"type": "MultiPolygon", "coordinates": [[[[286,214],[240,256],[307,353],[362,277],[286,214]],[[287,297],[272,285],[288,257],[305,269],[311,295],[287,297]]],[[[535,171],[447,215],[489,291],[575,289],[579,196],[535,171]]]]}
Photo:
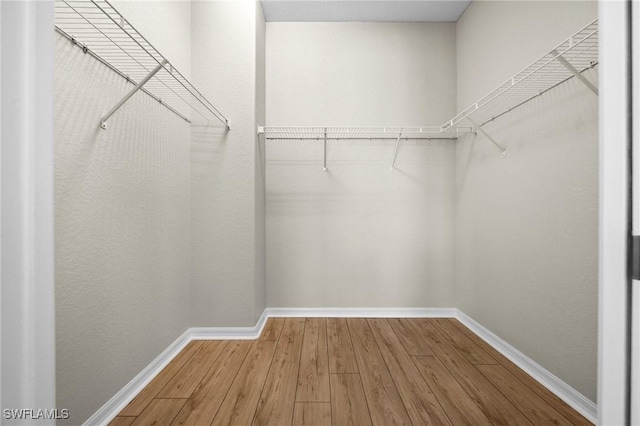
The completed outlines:
{"type": "MultiPolygon", "coordinates": [[[[596,15],[595,2],[473,2],[458,109],[596,15]]],[[[458,143],[457,307],[595,401],[597,98],[572,79],[485,130],[507,157],[480,134],[458,143]]]]}

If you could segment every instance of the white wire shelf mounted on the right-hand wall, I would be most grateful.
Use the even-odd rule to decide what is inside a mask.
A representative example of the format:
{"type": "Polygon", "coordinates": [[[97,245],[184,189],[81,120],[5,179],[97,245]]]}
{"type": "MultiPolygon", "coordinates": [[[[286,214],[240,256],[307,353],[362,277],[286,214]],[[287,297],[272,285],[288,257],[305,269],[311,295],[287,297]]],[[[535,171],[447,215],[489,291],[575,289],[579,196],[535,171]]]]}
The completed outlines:
{"type": "Polygon", "coordinates": [[[598,64],[598,20],[560,43],[441,126],[447,130],[468,119],[482,127],[529,100],[575,77],[598,95],[585,71],[598,64]]]}

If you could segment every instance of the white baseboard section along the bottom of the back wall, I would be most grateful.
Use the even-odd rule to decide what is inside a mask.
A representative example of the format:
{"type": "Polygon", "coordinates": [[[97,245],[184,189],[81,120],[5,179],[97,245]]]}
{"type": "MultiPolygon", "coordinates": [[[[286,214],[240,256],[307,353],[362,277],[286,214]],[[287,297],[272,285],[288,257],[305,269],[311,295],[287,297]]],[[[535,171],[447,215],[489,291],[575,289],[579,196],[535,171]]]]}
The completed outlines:
{"type": "Polygon", "coordinates": [[[455,308],[267,308],[269,317],[453,318],[455,308]]]}

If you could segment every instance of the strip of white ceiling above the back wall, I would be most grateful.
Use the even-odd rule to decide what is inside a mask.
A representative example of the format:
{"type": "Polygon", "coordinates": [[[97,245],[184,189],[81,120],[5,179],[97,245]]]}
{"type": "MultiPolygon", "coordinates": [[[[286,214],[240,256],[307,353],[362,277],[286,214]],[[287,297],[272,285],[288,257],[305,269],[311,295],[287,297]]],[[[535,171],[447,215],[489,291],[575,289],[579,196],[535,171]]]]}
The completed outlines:
{"type": "Polygon", "coordinates": [[[452,22],[471,0],[261,0],[267,22],[452,22]]]}

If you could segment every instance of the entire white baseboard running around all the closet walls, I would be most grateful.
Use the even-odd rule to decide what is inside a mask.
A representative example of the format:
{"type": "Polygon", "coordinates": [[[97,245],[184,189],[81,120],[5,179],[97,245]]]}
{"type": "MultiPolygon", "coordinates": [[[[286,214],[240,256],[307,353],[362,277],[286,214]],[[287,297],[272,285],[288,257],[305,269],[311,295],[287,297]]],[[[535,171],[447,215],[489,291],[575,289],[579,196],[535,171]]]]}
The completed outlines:
{"type": "Polygon", "coordinates": [[[256,339],[270,317],[347,318],[457,318],[462,324],[509,358],[531,377],[556,394],[589,421],[595,423],[597,406],[531,358],[518,351],[471,317],[455,308],[266,308],[253,327],[192,327],[164,350],[125,387],[104,404],[84,426],[106,425],[160,372],[191,340],[256,339]]]}

